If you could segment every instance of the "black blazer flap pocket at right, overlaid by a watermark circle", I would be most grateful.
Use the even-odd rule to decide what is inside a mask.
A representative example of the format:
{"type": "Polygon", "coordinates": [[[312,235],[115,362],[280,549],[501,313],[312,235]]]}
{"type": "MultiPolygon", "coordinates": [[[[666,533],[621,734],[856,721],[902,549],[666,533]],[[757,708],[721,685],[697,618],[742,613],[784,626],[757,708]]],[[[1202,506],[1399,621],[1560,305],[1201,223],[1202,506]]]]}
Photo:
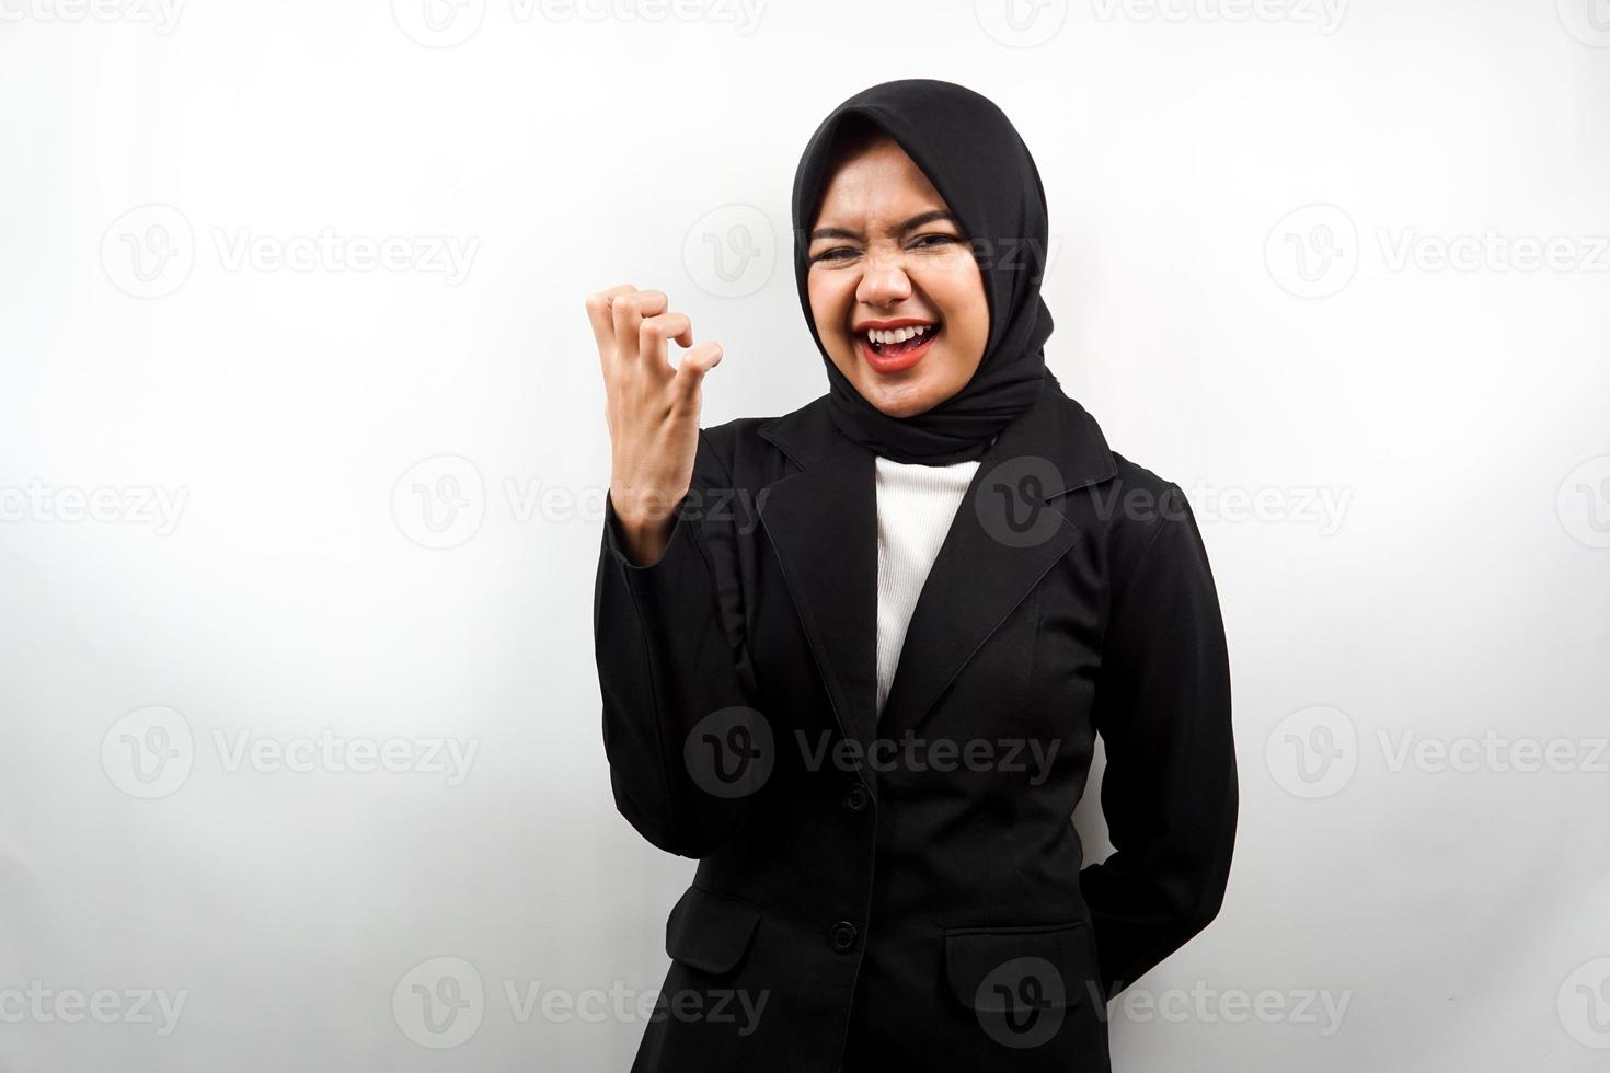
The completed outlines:
{"type": "Polygon", "coordinates": [[[1090,1007],[1100,967],[1090,925],[945,928],[950,991],[979,1013],[1090,1007]]]}

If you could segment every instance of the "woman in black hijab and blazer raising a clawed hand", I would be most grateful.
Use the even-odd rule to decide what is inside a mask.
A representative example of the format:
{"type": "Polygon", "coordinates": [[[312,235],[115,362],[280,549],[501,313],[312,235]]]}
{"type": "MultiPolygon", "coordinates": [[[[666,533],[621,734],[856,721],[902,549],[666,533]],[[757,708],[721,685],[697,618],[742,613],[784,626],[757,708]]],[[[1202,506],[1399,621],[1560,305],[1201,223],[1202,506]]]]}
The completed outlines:
{"type": "Polygon", "coordinates": [[[588,299],[610,779],[699,859],[633,1068],[1108,1070],[1108,999],[1212,920],[1235,841],[1196,523],[1045,368],[1045,193],[989,100],[847,100],[794,232],[829,393],[781,418],[699,430],[720,346],[588,299]],[[1080,867],[1096,734],[1116,853],[1080,867]]]}

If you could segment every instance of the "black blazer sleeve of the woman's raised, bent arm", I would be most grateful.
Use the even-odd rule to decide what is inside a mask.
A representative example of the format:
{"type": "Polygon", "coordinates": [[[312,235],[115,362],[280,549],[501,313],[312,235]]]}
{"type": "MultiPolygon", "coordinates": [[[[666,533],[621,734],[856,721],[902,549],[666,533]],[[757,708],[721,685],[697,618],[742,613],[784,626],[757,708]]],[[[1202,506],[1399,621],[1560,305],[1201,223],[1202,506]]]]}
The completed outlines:
{"type": "Polygon", "coordinates": [[[694,479],[678,504],[670,542],[647,566],[626,557],[615,504],[604,500],[592,640],[610,788],[638,833],[684,857],[720,846],[749,803],[712,793],[699,745],[687,748],[700,721],[734,706],[752,709],[739,685],[736,516],[708,508],[729,500],[731,491],[700,431],[694,479]]]}

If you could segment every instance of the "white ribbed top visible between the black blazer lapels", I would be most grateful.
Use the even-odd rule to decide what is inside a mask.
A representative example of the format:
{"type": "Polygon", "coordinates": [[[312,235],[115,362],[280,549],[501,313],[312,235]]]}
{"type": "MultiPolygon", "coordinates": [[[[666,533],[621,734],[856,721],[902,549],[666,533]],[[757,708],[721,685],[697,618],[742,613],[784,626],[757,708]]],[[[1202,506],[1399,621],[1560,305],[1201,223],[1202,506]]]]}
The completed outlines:
{"type": "Polygon", "coordinates": [[[927,467],[877,458],[879,714],[889,700],[916,598],[977,468],[977,460],[927,467]]]}

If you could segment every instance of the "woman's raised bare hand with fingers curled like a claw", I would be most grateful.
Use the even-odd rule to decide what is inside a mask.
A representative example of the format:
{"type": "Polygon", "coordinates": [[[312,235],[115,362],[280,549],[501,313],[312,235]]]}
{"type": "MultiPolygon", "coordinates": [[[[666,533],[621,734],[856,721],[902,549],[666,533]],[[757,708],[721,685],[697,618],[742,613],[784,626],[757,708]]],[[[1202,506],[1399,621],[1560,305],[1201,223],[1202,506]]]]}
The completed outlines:
{"type": "Polygon", "coordinates": [[[673,510],[692,484],[700,384],[721,362],[721,344],[694,346],[687,314],[670,310],[663,291],[639,291],[630,283],[589,294],[588,319],[604,368],[609,497],[626,537],[626,557],[654,563],[670,541],[673,510]],[[667,339],[689,347],[676,367],[667,357],[667,339]]]}

